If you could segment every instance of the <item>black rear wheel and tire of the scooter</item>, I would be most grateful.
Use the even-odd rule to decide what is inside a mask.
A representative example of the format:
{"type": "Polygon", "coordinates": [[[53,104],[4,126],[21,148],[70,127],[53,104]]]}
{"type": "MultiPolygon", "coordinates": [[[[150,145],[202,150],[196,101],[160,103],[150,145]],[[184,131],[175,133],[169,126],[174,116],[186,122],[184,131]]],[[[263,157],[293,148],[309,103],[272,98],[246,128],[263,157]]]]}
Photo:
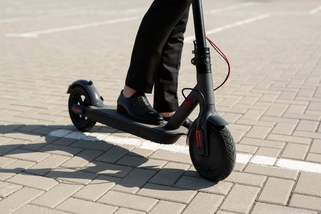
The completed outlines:
{"type": "Polygon", "coordinates": [[[86,118],[86,116],[74,113],[71,110],[73,105],[79,105],[84,107],[92,105],[91,100],[89,98],[89,94],[81,86],[74,87],[70,92],[68,101],[69,115],[73,125],[77,129],[81,131],[90,131],[92,127],[96,124],[96,122],[90,120],[89,118],[86,118]]]}

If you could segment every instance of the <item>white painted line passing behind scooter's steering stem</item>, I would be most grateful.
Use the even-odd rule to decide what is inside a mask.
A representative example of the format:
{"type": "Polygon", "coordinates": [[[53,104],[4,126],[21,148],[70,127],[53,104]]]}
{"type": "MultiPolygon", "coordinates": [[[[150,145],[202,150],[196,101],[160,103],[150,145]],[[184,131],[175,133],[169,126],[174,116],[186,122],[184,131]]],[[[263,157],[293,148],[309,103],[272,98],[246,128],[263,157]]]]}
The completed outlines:
{"type": "MultiPolygon", "coordinates": [[[[243,20],[243,21],[238,21],[238,22],[235,22],[235,23],[232,23],[232,24],[224,25],[222,27],[218,27],[218,28],[214,28],[212,30],[208,30],[208,31],[206,31],[206,34],[210,35],[210,34],[222,32],[224,30],[227,30],[227,29],[230,29],[230,28],[233,28],[233,27],[236,27],[236,26],[245,25],[245,24],[248,24],[248,23],[251,23],[251,22],[262,20],[263,18],[267,18],[269,16],[270,16],[269,13],[265,13],[265,14],[262,14],[262,15],[254,16],[252,18],[247,18],[246,20],[243,20]]],[[[188,43],[188,42],[192,42],[193,40],[195,40],[195,36],[188,36],[188,37],[186,37],[184,39],[184,42],[188,43]]]]}

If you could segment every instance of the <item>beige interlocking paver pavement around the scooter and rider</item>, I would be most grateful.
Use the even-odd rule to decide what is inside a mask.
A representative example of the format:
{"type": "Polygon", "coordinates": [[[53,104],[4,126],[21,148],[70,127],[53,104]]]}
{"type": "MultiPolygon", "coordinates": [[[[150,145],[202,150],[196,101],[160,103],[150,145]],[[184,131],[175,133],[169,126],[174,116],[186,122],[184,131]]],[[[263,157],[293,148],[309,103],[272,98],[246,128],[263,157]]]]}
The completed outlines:
{"type": "MultiPolygon", "coordinates": [[[[102,124],[86,134],[73,126],[68,86],[92,80],[115,105],[150,4],[0,2],[0,214],[320,214],[317,0],[203,0],[207,34],[232,67],[215,92],[237,150],[224,181],[199,176],[186,137],[159,145],[102,124]]],[[[179,90],[196,83],[193,38],[191,14],[179,90]]],[[[212,49],[211,58],[216,86],[227,66],[212,49]]]]}

